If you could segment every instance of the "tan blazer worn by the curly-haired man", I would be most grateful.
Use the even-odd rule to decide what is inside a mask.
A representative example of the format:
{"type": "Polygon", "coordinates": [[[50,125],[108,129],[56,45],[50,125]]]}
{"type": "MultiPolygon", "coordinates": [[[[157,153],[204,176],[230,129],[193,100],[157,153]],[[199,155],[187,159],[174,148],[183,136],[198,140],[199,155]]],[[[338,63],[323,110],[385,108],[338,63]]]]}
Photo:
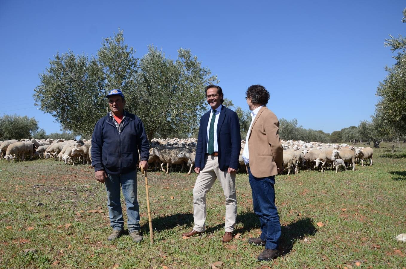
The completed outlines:
{"type": "Polygon", "coordinates": [[[279,121],[265,105],[259,110],[248,137],[249,165],[255,177],[274,176],[283,167],[279,121]]]}

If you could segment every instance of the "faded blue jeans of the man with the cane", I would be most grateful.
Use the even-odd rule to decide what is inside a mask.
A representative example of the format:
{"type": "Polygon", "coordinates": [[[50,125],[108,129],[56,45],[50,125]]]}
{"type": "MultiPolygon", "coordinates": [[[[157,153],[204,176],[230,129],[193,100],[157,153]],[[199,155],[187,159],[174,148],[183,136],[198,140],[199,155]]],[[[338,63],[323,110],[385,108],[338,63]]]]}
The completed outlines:
{"type": "Polygon", "coordinates": [[[124,230],[123,210],[120,202],[120,185],[127,206],[128,233],[140,230],[140,207],[137,200],[137,170],[127,174],[108,174],[105,181],[110,226],[113,230],[124,230]]]}

